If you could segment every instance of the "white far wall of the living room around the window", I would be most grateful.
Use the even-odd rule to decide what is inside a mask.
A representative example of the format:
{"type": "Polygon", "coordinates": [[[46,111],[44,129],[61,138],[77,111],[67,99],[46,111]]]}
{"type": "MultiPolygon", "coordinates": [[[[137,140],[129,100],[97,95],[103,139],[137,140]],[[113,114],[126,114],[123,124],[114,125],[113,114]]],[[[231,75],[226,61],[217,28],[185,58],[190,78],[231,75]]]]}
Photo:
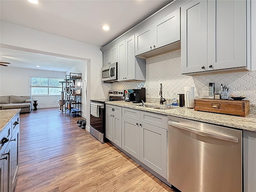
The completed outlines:
{"type": "MultiPolygon", "coordinates": [[[[15,67],[1,67],[0,95],[30,95],[30,76],[32,77],[60,77],[65,78],[65,72],[25,69],[15,67]]],[[[38,100],[38,108],[58,107],[60,96],[33,96],[38,100]]],[[[34,108],[32,106],[32,108],[34,108]]]]}

